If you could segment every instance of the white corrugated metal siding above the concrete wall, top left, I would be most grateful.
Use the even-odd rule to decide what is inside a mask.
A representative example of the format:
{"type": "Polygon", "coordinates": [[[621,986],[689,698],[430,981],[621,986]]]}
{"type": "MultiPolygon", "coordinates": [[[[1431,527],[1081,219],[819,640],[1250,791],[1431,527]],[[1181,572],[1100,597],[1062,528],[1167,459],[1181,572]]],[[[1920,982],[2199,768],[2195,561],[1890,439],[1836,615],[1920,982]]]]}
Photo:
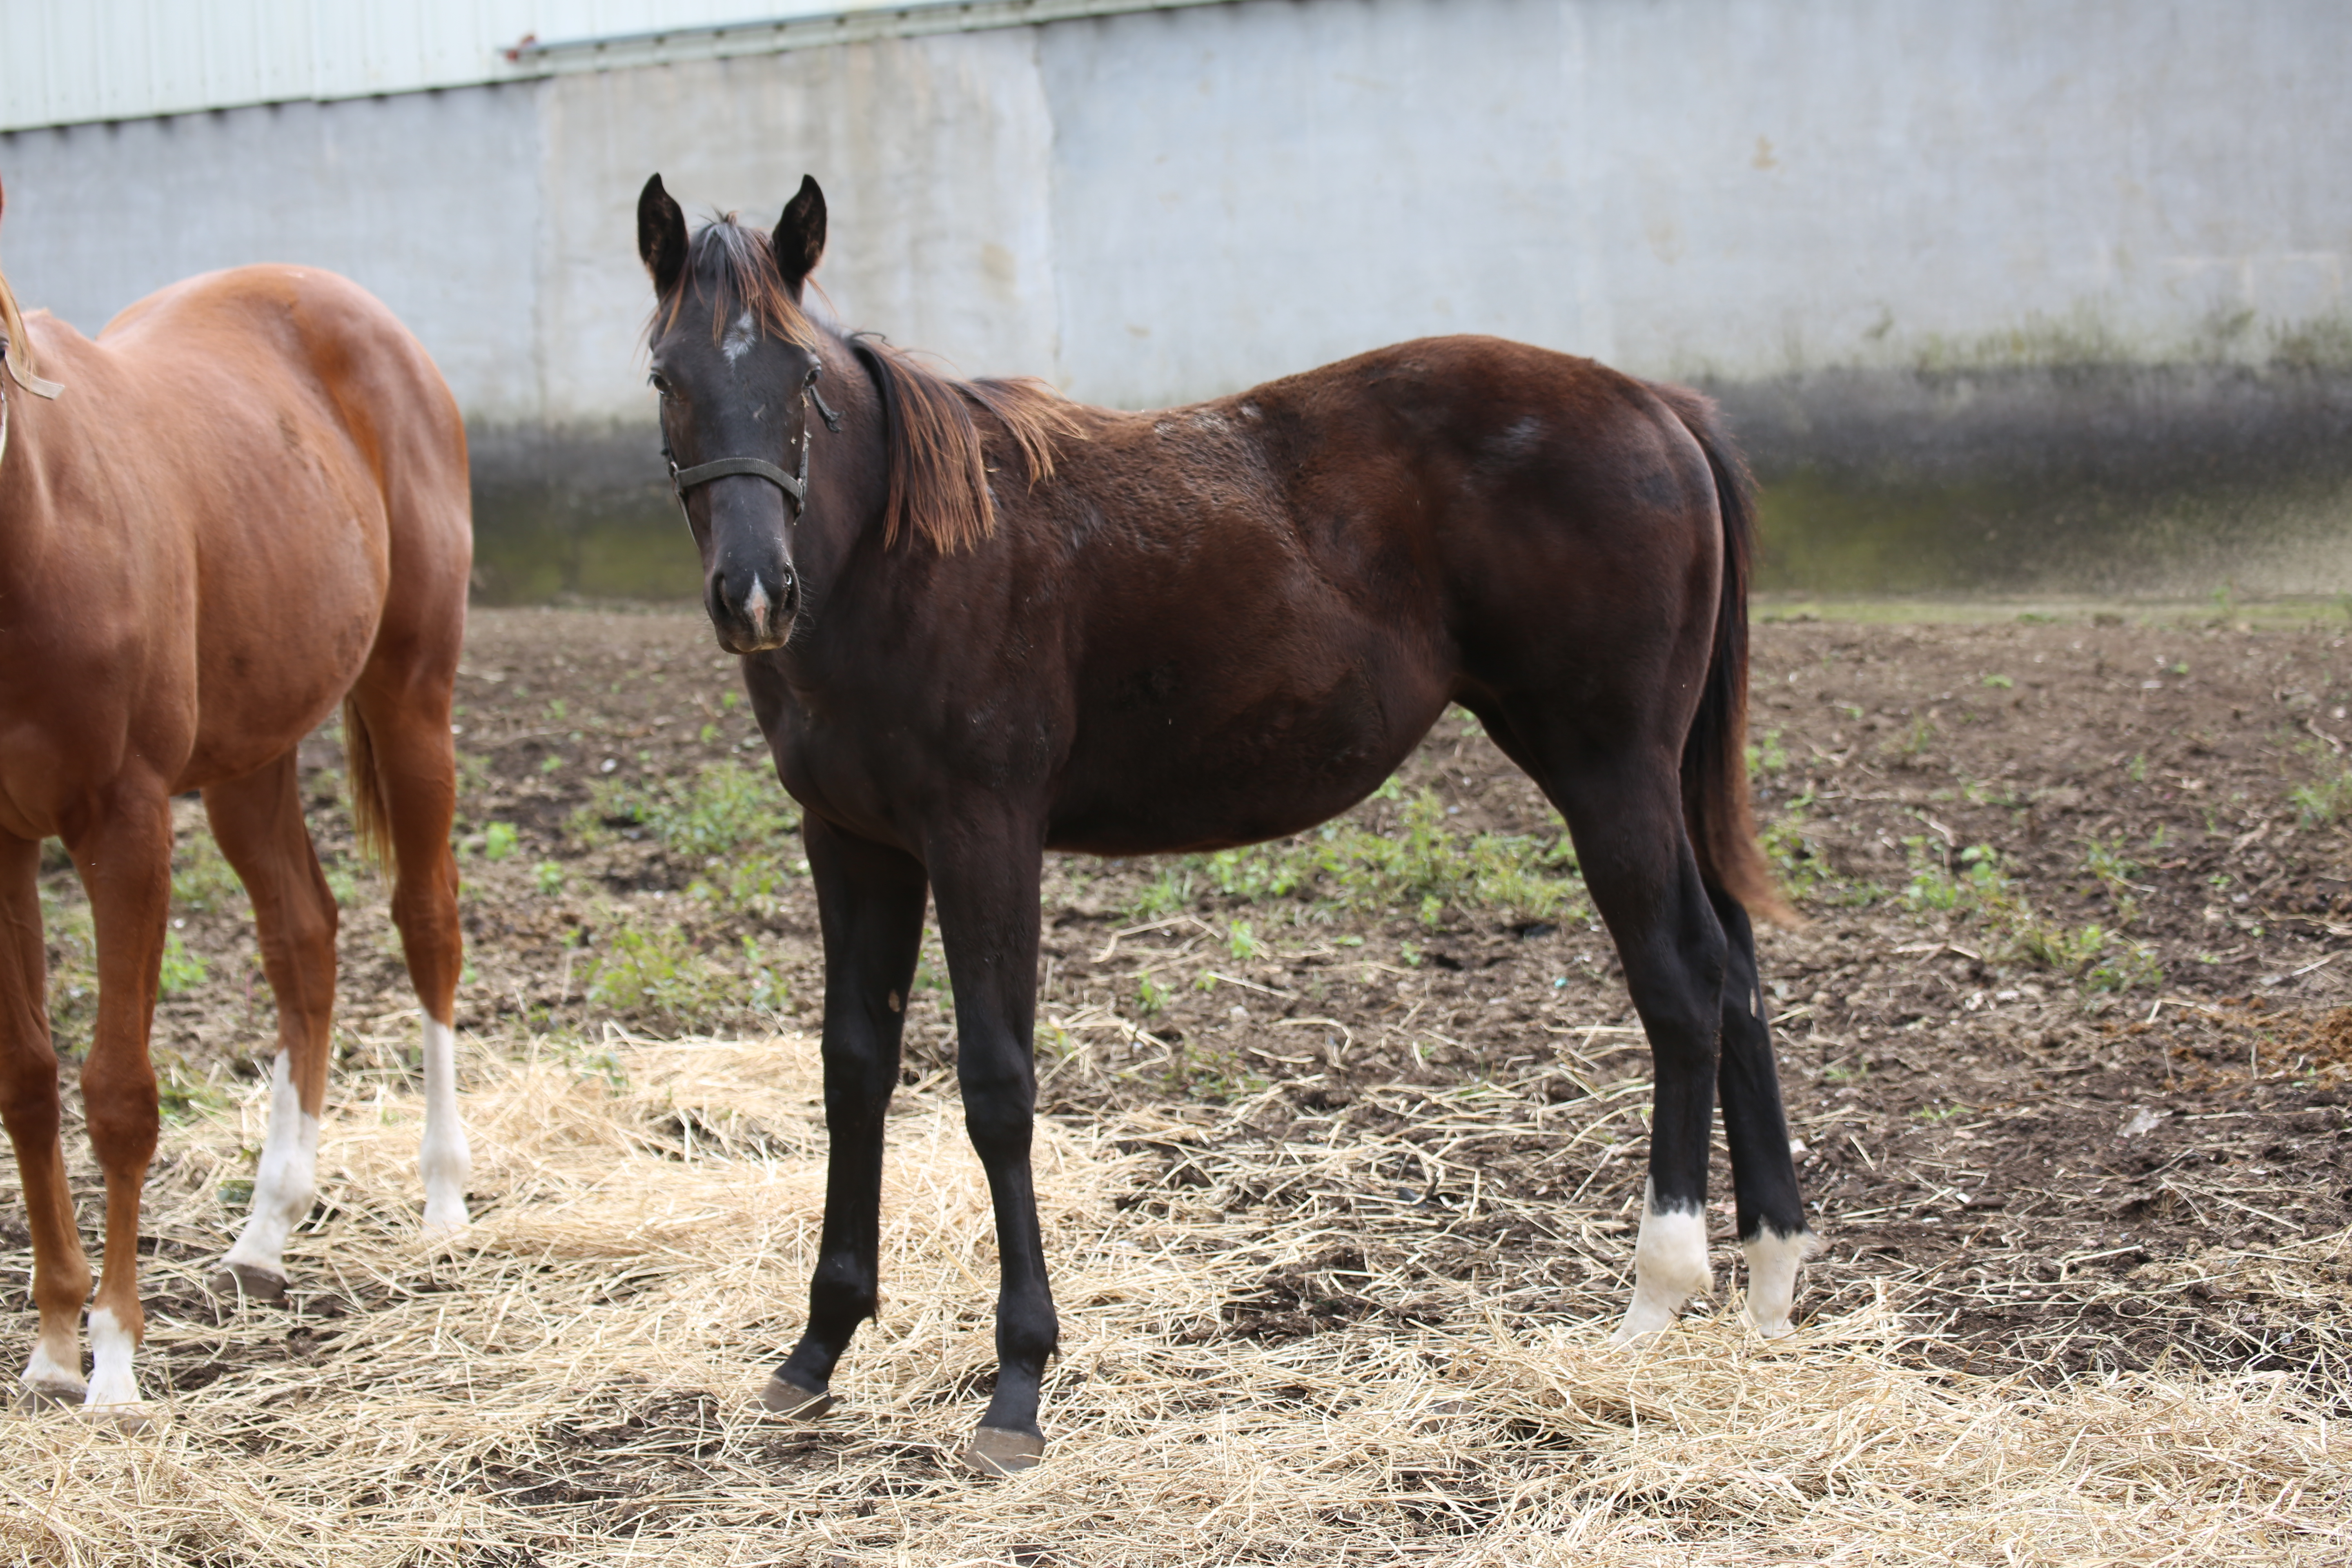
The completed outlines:
{"type": "Polygon", "coordinates": [[[0,132],[1218,2],[5,0],[0,132]]]}

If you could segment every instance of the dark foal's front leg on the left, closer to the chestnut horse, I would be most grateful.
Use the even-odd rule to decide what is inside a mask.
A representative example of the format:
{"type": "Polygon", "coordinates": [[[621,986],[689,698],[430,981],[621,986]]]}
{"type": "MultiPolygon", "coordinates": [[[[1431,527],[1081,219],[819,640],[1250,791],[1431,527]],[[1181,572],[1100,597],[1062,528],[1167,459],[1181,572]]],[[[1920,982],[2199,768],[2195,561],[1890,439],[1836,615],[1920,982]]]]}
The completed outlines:
{"type": "Polygon", "coordinates": [[[809,1328],[760,1401],[816,1418],[849,1335],[875,1314],[882,1246],[882,1117],[898,1084],[906,994],[922,945],[915,856],[802,818],[826,936],[826,1229],[809,1279],[809,1328]]]}

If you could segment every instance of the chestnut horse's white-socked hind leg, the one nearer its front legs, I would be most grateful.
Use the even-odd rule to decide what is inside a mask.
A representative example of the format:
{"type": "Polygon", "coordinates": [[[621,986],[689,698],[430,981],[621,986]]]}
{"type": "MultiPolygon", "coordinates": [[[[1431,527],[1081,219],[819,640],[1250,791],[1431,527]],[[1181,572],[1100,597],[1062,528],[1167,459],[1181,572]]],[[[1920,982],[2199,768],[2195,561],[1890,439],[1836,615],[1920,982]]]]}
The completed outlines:
{"type": "Polygon", "coordinates": [[[285,1244],[310,1218],[318,1175],[318,1119],[327,1105],[327,1044],[334,1020],[334,896],[318,870],[301,820],[294,752],[205,790],[212,837],[254,900],[261,971],[278,999],[278,1063],[270,1070],[270,1126],[254,1175],[254,1208],[221,1260],[212,1288],[263,1300],[285,1295],[285,1244]]]}

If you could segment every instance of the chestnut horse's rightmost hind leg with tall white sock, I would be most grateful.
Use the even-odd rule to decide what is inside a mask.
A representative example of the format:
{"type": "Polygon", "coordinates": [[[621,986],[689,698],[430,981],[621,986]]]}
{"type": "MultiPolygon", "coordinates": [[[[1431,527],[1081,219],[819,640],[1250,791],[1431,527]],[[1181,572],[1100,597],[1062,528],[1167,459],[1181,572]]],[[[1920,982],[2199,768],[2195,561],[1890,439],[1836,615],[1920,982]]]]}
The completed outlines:
{"type": "MultiPolygon", "coordinates": [[[[409,983],[423,1004],[426,1135],[416,1164],[426,1178],[426,1234],[466,1227],[466,1178],[473,1154],[456,1112],[456,980],[466,943],[456,919],[456,745],[449,738],[449,689],[456,644],[412,668],[372,663],[343,722],[367,726],[374,788],[393,835],[393,924],[409,961],[409,983]]],[[[353,788],[369,788],[353,780],[353,788]]]]}

